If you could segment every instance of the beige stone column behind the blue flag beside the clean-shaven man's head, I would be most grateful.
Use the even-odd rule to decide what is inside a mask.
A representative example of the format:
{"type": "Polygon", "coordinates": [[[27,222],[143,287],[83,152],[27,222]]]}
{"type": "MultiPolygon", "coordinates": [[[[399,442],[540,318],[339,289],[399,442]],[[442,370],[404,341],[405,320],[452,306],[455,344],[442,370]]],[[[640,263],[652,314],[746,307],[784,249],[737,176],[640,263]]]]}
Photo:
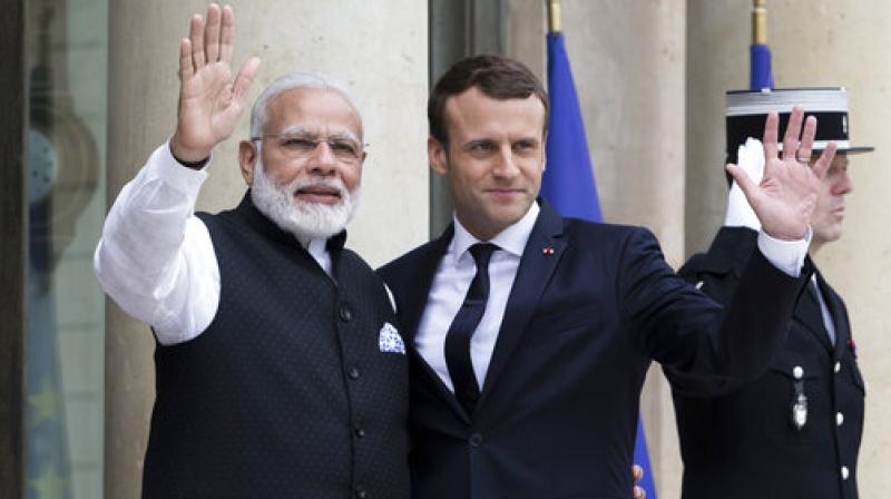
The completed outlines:
{"type": "MultiPolygon", "coordinates": [[[[546,75],[544,1],[511,0],[510,55],[546,75]]],[[[685,27],[683,0],[564,0],[562,26],[606,222],[645,225],[683,263],[685,27]]],[[[681,463],[670,392],[654,369],[642,399],[660,498],[681,463]]]]}

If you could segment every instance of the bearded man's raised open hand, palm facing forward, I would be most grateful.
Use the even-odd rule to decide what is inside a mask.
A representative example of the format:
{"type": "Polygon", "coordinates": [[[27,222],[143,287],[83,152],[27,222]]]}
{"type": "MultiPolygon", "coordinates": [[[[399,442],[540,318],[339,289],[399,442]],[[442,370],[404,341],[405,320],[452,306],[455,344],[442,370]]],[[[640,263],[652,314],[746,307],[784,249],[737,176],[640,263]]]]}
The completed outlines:
{"type": "Polygon", "coordinates": [[[179,108],[170,143],[182,162],[200,162],[232,135],[256,76],[260,59],[245,62],[232,81],[233,12],[212,3],[207,25],[200,16],[189,23],[189,37],[179,45],[179,108]]]}

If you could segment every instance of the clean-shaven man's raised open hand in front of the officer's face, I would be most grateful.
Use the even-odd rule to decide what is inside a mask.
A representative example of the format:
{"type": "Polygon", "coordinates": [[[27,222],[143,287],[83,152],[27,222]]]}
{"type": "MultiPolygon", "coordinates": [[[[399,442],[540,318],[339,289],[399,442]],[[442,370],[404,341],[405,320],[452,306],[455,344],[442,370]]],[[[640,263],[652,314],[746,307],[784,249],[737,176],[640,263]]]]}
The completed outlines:
{"type": "Polygon", "coordinates": [[[809,167],[816,118],[807,117],[802,133],[803,115],[800,106],[792,109],[782,155],[777,145],[780,118],[775,111],[767,115],[764,126],[764,176],[760,184],[755,184],[738,166],[727,165],[727,172],[740,184],[764,232],[784,241],[805,236],[816,205],[820,178],[835,156],[835,143],[830,143],[813,167],[809,167]]]}

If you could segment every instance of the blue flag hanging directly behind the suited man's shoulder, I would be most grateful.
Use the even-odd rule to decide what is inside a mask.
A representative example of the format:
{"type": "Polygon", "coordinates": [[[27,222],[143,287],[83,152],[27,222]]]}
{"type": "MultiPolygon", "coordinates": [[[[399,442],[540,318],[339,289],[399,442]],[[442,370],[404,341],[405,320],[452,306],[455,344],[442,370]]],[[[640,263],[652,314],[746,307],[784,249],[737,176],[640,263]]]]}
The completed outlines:
{"type": "MultiPolygon", "coordinates": [[[[588,140],[585,137],[585,123],[581,120],[576,85],[561,32],[548,33],[548,164],[541,179],[541,196],[562,216],[603,222],[588,140]]],[[[656,499],[647,440],[639,419],[634,462],[644,468],[644,480],[639,486],[646,490],[647,499],[656,499]]]]}

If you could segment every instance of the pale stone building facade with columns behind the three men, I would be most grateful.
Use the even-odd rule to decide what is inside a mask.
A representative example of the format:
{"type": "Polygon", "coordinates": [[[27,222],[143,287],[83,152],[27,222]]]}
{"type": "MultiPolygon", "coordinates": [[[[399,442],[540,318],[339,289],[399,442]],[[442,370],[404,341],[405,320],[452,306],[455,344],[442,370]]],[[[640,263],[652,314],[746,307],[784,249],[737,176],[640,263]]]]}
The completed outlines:
{"type": "MultiPolygon", "coordinates": [[[[136,498],[154,400],[154,340],[104,299],[91,253],[111,200],[172,133],[177,47],[204,2],[14,0],[0,19],[0,496],[136,498]]],[[[252,97],[292,70],[344,80],[369,159],[350,246],[372,265],[450,218],[425,157],[430,82],[453,60],[503,52],[545,76],[544,0],[233,1],[236,65],[263,59],[252,97]],[[383,229],[382,229],[383,228],[383,229]]],[[[654,229],[673,265],[706,247],[724,215],[724,91],[747,85],[751,2],[564,0],[562,25],[604,216],[654,229]]],[[[844,237],[820,266],[845,297],[869,383],[860,487],[891,488],[891,9],[878,0],[768,2],[777,86],[845,86],[853,134],[844,237]]],[[[200,209],[244,185],[235,136],[215,153],[200,209]]],[[[659,497],[681,461],[660,370],[646,384],[659,497]]]]}

